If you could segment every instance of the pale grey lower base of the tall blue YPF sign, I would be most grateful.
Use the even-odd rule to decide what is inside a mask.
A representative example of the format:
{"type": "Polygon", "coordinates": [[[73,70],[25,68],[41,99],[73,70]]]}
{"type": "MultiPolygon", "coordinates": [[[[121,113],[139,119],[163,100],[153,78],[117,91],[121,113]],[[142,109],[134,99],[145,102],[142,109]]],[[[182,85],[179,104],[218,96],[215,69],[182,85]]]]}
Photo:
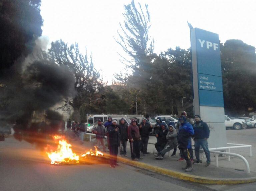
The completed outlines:
{"type": "Polygon", "coordinates": [[[201,119],[210,129],[209,148],[227,146],[225,111],[223,107],[200,106],[201,119]]]}

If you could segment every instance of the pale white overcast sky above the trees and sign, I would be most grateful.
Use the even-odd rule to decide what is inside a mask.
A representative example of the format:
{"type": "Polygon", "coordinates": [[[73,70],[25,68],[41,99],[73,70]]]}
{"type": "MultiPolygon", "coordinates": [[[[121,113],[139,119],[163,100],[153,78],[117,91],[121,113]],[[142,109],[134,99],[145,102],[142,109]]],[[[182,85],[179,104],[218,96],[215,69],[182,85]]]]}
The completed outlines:
{"type": "MultiPolygon", "coordinates": [[[[42,0],[42,36],[50,42],[77,42],[80,52],[92,54],[94,66],[104,82],[111,84],[114,73],[125,70],[121,55],[128,58],[114,38],[123,23],[124,4],[131,0],[42,0]]],[[[187,21],[195,28],[219,34],[225,43],[240,39],[256,47],[256,1],[254,0],[135,0],[148,4],[149,35],[155,52],[190,47],[187,21]]],[[[50,48],[50,47],[49,47],[50,48]]]]}

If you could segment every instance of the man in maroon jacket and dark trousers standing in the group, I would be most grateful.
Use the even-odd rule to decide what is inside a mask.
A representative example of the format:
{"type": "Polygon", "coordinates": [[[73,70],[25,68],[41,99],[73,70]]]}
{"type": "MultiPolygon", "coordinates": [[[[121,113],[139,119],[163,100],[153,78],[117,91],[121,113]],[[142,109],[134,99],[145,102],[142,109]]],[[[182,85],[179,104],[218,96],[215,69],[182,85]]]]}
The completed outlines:
{"type": "Polygon", "coordinates": [[[128,138],[131,146],[131,158],[138,161],[140,159],[140,131],[137,121],[132,119],[132,123],[128,126],[128,138]]]}

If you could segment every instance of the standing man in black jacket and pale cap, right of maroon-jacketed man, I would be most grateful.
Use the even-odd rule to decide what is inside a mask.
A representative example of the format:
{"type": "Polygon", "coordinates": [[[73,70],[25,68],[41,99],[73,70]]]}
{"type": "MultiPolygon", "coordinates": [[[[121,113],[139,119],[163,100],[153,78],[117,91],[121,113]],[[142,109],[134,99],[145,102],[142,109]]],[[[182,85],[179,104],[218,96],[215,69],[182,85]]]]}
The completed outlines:
{"type": "Polygon", "coordinates": [[[147,123],[146,118],[142,118],[142,122],[140,124],[140,136],[141,136],[141,151],[143,152],[143,156],[147,156],[147,148],[148,148],[148,139],[149,133],[152,131],[153,127],[149,123],[147,123]]]}

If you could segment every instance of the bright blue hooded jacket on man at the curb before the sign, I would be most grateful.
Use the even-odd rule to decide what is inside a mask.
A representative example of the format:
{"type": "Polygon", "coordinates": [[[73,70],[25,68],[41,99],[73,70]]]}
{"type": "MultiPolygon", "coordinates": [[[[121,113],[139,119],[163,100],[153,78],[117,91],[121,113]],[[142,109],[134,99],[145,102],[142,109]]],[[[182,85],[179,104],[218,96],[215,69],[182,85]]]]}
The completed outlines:
{"type": "Polygon", "coordinates": [[[182,116],[182,118],[183,123],[178,133],[179,148],[191,148],[191,136],[194,135],[194,129],[192,125],[186,121],[186,117],[182,116]]]}

